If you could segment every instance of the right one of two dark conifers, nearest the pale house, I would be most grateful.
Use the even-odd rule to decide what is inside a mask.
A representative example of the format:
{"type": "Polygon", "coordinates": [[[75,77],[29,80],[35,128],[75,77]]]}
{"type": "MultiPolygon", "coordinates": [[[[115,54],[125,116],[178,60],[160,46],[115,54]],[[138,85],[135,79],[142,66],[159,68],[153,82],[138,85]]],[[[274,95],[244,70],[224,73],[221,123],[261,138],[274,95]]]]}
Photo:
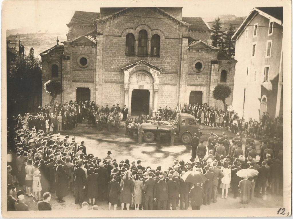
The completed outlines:
{"type": "Polygon", "coordinates": [[[225,28],[225,32],[223,33],[223,52],[226,53],[229,57],[234,58],[235,55],[235,40],[231,39],[233,34],[235,33],[235,27],[230,24],[229,28],[225,28]]]}

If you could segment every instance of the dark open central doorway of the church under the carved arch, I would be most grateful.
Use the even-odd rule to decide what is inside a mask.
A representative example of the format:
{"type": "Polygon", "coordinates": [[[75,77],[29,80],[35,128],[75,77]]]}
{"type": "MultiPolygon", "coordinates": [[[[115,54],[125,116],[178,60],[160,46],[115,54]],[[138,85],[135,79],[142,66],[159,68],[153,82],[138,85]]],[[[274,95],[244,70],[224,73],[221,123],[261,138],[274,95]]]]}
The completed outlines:
{"type": "Polygon", "coordinates": [[[131,94],[131,116],[149,115],[149,90],[134,89],[131,94]]]}

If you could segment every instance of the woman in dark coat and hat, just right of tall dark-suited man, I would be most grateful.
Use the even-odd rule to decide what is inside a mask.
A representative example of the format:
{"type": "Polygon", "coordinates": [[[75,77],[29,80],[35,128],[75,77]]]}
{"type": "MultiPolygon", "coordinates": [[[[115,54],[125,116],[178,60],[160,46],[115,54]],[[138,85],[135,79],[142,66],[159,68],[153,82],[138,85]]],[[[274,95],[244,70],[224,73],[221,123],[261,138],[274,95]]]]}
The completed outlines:
{"type": "Polygon", "coordinates": [[[87,183],[87,187],[88,187],[88,203],[91,204],[92,199],[93,199],[93,203],[92,205],[95,205],[95,201],[96,198],[98,198],[98,177],[99,174],[95,173],[95,169],[93,167],[91,167],[89,169],[90,174],[88,175],[88,183],[87,183]]]}

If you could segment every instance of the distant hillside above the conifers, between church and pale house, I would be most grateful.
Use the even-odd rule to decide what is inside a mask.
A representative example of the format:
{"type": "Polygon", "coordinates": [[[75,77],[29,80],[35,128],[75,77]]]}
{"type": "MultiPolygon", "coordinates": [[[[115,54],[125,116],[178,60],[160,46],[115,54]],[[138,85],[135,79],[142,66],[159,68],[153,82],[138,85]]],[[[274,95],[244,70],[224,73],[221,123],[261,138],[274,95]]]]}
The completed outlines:
{"type": "Polygon", "coordinates": [[[218,17],[221,19],[221,23],[223,23],[221,25],[223,31],[225,30],[225,28],[229,27],[230,23],[233,24],[233,26],[237,30],[239,28],[239,26],[241,25],[241,23],[246,18],[246,17],[237,17],[237,16],[235,16],[233,14],[222,14],[222,15],[219,15],[219,16],[216,16],[216,17],[204,18],[204,21],[207,21],[207,23],[209,24],[209,27],[212,28],[215,18],[218,18],[218,17]]]}

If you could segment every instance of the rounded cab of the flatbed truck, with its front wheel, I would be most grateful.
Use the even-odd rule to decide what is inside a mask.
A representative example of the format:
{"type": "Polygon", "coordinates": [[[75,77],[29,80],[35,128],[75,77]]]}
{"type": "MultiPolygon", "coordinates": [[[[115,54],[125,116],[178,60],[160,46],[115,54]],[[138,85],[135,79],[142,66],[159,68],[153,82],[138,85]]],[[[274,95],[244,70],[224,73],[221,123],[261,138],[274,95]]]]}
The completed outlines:
{"type": "Polygon", "coordinates": [[[175,131],[182,143],[189,144],[195,133],[200,138],[200,127],[193,115],[189,113],[177,113],[175,122],[177,123],[175,131]]]}

